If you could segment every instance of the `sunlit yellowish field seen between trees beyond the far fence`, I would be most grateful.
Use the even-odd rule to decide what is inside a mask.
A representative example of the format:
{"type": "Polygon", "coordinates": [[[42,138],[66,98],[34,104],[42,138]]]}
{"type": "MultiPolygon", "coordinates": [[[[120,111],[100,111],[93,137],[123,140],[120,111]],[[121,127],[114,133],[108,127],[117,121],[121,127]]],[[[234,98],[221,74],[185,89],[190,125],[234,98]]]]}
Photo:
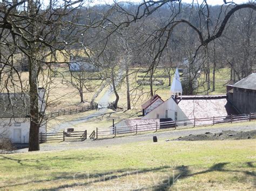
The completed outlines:
{"type": "MultiPolygon", "coordinates": [[[[136,69],[136,68],[133,68],[136,69]]],[[[131,71],[133,71],[131,69],[131,71]]],[[[47,80],[49,80],[46,75],[51,76],[51,86],[50,86],[50,94],[49,94],[49,107],[48,111],[54,111],[54,110],[59,110],[59,109],[72,109],[72,108],[77,108],[77,107],[83,107],[84,105],[89,104],[91,101],[93,95],[98,91],[100,88],[100,85],[102,84],[101,80],[91,80],[90,83],[88,84],[92,88],[92,92],[85,90],[84,91],[84,100],[85,103],[80,103],[80,97],[78,94],[78,91],[72,87],[70,84],[70,72],[69,68],[67,66],[58,66],[56,67],[56,74],[53,74],[53,72],[48,73],[48,70],[44,70],[44,75],[39,76],[39,86],[44,86],[47,80]]],[[[173,69],[173,74],[174,74],[174,69],[173,69]]],[[[28,89],[28,72],[22,72],[21,73],[21,79],[23,82],[23,87],[25,89],[28,89]]],[[[97,73],[89,73],[88,77],[90,76],[97,76],[97,73]]],[[[137,74],[132,74],[129,76],[130,79],[130,90],[131,90],[131,105],[132,108],[134,108],[137,112],[140,110],[140,105],[144,103],[147,99],[150,98],[150,86],[142,86],[142,87],[137,87],[138,84],[136,83],[137,80],[142,80],[142,77],[138,76],[143,76],[145,73],[139,72],[137,74]],[[136,90],[134,90],[136,89],[136,90]],[[134,91],[133,91],[134,90],[134,91]]],[[[156,76],[159,75],[167,75],[167,73],[164,71],[163,68],[158,68],[156,73],[154,74],[156,76]]],[[[223,94],[225,93],[225,85],[227,84],[230,76],[230,71],[228,68],[221,68],[216,71],[216,82],[215,82],[215,91],[214,92],[209,92],[209,94],[223,94]]],[[[212,74],[210,75],[212,77],[212,74]]],[[[173,78],[173,75],[172,77],[173,78]]],[[[147,80],[148,78],[145,78],[147,80]]],[[[201,74],[201,77],[199,81],[202,81],[204,79],[204,74],[201,74]]],[[[156,94],[161,96],[163,100],[166,100],[167,98],[170,97],[170,87],[168,86],[169,79],[167,77],[157,77],[157,80],[163,80],[164,84],[162,86],[153,86],[153,90],[155,91],[156,94]]],[[[18,84],[19,85],[19,84],[18,84]]],[[[206,84],[205,84],[206,86],[206,84]]],[[[198,92],[200,94],[206,94],[207,92],[204,91],[206,88],[200,87],[198,92]]],[[[105,89],[103,89],[102,93],[99,95],[99,97],[104,94],[110,87],[107,86],[105,89]]],[[[16,91],[18,89],[16,88],[16,91]]],[[[118,93],[120,96],[119,100],[119,107],[126,108],[126,84],[123,82],[118,88],[118,93]]],[[[115,96],[112,94],[109,98],[109,101],[114,101],[115,96]]],[[[98,101],[98,99],[96,99],[98,101]]]]}

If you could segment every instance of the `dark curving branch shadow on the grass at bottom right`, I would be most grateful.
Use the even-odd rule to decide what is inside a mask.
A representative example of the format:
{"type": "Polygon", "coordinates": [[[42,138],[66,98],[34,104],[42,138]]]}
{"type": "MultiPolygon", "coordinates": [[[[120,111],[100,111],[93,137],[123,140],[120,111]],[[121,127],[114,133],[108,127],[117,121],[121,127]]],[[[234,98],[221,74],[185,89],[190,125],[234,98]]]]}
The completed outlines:
{"type": "MultiPolygon", "coordinates": [[[[254,171],[250,172],[250,171],[238,171],[238,170],[224,169],[224,167],[227,164],[229,164],[229,162],[218,163],[218,164],[211,166],[206,171],[201,171],[201,172],[197,172],[197,173],[192,173],[188,169],[188,166],[178,166],[178,167],[174,168],[174,170],[178,171],[178,172],[174,175],[170,175],[169,179],[165,179],[165,180],[161,181],[159,183],[159,185],[157,185],[157,186],[154,186],[151,188],[145,188],[145,189],[169,190],[169,189],[171,189],[171,187],[174,185],[174,183],[177,180],[186,179],[186,178],[189,178],[194,175],[205,174],[208,172],[235,172],[235,173],[244,173],[245,175],[250,175],[250,176],[256,176],[256,173],[254,171]]],[[[248,167],[255,168],[255,166],[253,165],[253,162],[246,162],[246,164],[248,167]]]]}

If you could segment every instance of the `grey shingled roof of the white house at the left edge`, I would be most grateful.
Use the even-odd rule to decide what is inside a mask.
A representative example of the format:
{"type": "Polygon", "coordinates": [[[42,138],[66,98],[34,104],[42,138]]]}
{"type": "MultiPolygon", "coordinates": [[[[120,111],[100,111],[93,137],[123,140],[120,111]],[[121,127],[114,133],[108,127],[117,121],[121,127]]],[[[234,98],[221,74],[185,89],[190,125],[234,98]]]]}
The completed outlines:
{"type": "Polygon", "coordinates": [[[0,118],[29,116],[30,97],[21,93],[0,93],[0,118]]]}

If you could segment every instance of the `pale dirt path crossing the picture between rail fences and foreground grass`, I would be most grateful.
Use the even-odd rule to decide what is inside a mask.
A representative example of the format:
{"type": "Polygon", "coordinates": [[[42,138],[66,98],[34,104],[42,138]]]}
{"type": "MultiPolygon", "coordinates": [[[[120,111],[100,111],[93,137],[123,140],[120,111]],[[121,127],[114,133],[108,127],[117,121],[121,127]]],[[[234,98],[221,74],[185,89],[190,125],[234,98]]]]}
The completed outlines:
{"type": "MultiPolygon", "coordinates": [[[[142,141],[152,141],[153,136],[157,136],[159,142],[165,141],[165,139],[173,139],[182,136],[188,136],[190,134],[199,135],[205,132],[219,133],[221,131],[233,130],[233,131],[251,131],[255,130],[255,125],[244,126],[230,126],[227,128],[211,128],[207,127],[206,129],[186,129],[186,130],[170,130],[164,132],[154,132],[144,135],[129,136],[129,137],[116,137],[111,139],[102,139],[102,140],[90,140],[87,139],[84,142],[60,142],[60,143],[45,143],[41,144],[41,151],[48,150],[72,150],[77,148],[90,148],[90,147],[100,147],[100,146],[112,146],[118,144],[126,143],[135,143],[142,141]]],[[[18,150],[18,152],[26,152],[27,149],[18,150]]]]}

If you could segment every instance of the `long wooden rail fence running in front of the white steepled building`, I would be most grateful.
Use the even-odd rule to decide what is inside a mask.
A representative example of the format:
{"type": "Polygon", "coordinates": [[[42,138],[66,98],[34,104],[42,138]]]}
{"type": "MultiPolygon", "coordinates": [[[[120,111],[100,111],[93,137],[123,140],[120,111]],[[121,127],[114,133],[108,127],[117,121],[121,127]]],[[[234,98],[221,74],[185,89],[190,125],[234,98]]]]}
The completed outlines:
{"type": "Polygon", "coordinates": [[[106,138],[109,136],[116,137],[117,135],[135,133],[144,131],[158,131],[161,129],[176,129],[181,127],[196,127],[196,126],[207,126],[223,123],[235,123],[256,120],[256,113],[248,115],[228,115],[218,117],[207,117],[207,118],[193,118],[181,121],[168,121],[168,122],[156,122],[156,123],[145,123],[136,124],[129,126],[113,126],[112,128],[96,128],[95,131],[89,136],[90,139],[106,138]]]}

